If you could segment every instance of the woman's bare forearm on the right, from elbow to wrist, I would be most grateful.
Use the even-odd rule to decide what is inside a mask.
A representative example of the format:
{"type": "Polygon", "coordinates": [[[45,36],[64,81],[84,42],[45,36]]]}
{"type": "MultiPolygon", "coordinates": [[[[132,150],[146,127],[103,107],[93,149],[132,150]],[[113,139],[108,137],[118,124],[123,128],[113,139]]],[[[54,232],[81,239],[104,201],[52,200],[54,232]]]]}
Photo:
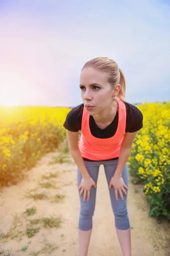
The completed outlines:
{"type": "Polygon", "coordinates": [[[123,172],[123,169],[127,162],[127,159],[130,156],[131,149],[132,149],[132,146],[130,148],[126,148],[123,145],[121,145],[120,152],[119,152],[118,164],[117,164],[114,176],[122,177],[122,172],[123,172]]]}

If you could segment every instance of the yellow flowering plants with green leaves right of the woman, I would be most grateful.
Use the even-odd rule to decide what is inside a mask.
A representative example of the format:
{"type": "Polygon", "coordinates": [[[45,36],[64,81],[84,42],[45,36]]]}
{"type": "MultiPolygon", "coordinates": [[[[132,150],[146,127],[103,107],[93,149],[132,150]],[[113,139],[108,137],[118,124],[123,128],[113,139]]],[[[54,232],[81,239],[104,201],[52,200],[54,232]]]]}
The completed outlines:
{"type": "Polygon", "coordinates": [[[143,103],[143,128],[138,132],[128,158],[130,175],[144,183],[150,202],[149,216],[170,220],[170,102],[143,103]]]}

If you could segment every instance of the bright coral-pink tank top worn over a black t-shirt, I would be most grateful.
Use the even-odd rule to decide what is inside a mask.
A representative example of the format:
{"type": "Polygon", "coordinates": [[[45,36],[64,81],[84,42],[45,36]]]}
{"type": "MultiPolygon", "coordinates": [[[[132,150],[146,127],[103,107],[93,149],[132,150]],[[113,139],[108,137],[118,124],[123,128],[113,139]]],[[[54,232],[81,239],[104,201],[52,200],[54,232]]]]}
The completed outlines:
{"type": "Polygon", "coordinates": [[[111,138],[100,139],[91,134],[89,119],[86,108],[82,113],[82,134],[79,140],[79,150],[82,157],[89,160],[108,160],[119,157],[119,151],[126,128],[126,107],[120,99],[116,99],[119,104],[118,126],[116,133],[111,138]]]}

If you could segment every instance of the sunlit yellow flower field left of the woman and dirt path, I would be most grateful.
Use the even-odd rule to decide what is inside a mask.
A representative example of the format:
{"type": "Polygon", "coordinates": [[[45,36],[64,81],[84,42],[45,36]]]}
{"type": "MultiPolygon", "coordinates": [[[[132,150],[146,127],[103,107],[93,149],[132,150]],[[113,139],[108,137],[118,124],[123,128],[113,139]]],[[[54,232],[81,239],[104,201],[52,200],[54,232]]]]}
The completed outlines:
{"type": "Polygon", "coordinates": [[[69,108],[0,108],[0,185],[22,178],[45,153],[57,150],[66,134],[62,124],[69,108]]]}

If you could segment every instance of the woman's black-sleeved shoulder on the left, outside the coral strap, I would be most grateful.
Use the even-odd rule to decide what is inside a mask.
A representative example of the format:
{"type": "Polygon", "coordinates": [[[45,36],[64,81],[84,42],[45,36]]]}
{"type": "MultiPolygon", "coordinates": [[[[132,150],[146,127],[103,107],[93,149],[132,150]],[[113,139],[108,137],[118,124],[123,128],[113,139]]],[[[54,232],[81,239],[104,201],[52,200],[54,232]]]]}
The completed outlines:
{"type": "Polygon", "coordinates": [[[84,104],[82,103],[72,108],[71,111],[68,112],[63,124],[66,129],[75,132],[81,130],[83,108],[84,104]]]}

